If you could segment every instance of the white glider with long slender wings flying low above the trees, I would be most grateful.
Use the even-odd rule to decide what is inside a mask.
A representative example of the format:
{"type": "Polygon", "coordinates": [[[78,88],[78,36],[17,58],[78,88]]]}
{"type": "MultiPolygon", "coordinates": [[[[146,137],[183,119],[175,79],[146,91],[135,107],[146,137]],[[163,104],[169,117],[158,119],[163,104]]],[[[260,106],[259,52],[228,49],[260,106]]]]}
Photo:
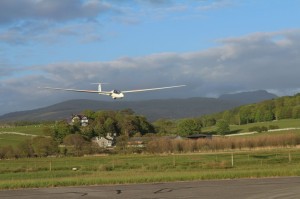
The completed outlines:
{"type": "Polygon", "coordinates": [[[98,84],[98,90],[78,90],[78,89],[68,89],[68,88],[53,88],[53,87],[40,87],[43,89],[51,89],[51,90],[63,90],[63,91],[73,91],[73,92],[83,92],[83,93],[98,93],[100,95],[108,95],[113,99],[121,99],[124,97],[124,93],[136,93],[136,92],[144,92],[144,91],[153,91],[153,90],[162,90],[168,88],[178,88],[186,85],[178,85],[178,86],[167,86],[167,87],[159,87],[159,88],[147,88],[147,89],[138,89],[138,90],[112,90],[112,91],[102,91],[101,85],[104,83],[95,83],[98,84]]]}

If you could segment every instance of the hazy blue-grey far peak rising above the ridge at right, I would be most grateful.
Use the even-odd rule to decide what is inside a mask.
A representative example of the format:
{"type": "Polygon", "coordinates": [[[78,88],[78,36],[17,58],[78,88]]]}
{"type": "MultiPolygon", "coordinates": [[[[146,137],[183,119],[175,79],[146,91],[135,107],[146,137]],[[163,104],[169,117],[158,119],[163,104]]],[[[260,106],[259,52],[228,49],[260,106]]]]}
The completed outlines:
{"type": "Polygon", "coordinates": [[[235,94],[224,94],[219,97],[220,100],[237,101],[242,104],[252,104],[264,100],[275,99],[278,96],[269,93],[265,90],[241,92],[235,94]]]}

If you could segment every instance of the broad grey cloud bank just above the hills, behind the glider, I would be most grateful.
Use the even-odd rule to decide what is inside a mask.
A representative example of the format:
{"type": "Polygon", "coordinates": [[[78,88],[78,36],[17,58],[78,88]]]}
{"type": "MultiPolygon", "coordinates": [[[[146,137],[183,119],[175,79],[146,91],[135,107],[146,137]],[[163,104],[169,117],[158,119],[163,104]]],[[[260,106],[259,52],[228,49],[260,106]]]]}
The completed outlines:
{"type": "MultiPolygon", "coordinates": [[[[218,96],[223,93],[267,89],[276,94],[299,91],[300,31],[255,33],[220,40],[221,46],[206,51],[159,53],[123,57],[109,62],[54,63],[27,68],[18,78],[0,80],[2,112],[26,109],[66,99],[99,96],[37,91],[37,86],[95,89],[92,82],[109,82],[107,89],[136,89],[187,84],[178,92],[152,92],[127,99],[218,96]],[[282,45],[280,38],[286,45],[282,45]],[[32,73],[35,72],[35,75],[32,73]],[[28,95],[30,93],[30,95],[28,95]],[[32,100],[34,98],[34,100],[32,100]],[[46,99],[47,98],[47,101],[46,99]],[[21,100],[22,99],[22,100],[21,100]]],[[[10,71],[2,68],[0,73],[10,71]]],[[[107,99],[107,98],[101,98],[107,99]]],[[[109,100],[109,99],[107,99],[109,100]]]]}

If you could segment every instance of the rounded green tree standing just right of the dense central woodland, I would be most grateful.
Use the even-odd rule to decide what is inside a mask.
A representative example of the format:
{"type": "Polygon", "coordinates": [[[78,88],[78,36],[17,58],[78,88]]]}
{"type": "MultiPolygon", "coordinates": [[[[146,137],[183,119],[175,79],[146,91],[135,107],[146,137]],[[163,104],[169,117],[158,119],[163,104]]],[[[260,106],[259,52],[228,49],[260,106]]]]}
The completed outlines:
{"type": "Polygon", "coordinates": [[[193,135],[201,132],[201,124],[194,119],[183,119],[178,123],[177,132],[181,136],[193,135]]]}

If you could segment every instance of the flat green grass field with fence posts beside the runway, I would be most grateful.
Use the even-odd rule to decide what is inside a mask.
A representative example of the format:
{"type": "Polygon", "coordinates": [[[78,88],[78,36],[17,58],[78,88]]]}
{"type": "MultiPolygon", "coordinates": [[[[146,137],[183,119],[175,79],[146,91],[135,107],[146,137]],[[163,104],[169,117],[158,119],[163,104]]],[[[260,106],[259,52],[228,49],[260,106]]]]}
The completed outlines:
{"type": "Polygon", "coordinates": [[[300,175],[300,149],[0,160],[0,189],[300,175]]]}

